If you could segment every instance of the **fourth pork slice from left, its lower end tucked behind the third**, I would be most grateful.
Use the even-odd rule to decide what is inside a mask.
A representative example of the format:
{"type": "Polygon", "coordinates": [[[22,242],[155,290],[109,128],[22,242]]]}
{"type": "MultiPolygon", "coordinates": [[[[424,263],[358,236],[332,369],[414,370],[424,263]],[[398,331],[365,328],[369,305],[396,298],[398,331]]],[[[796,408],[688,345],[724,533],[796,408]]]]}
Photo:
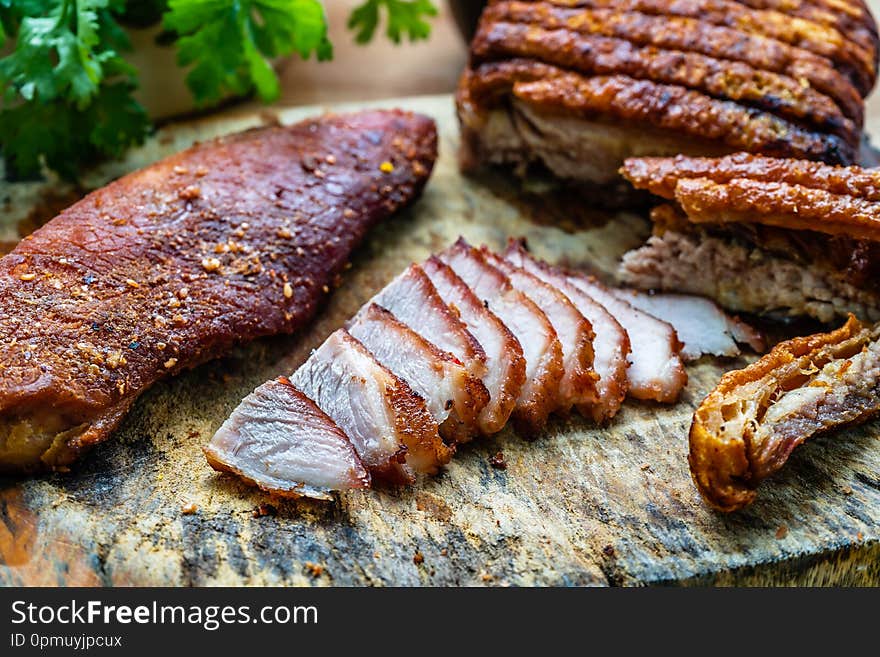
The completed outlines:
{"type": "Polygon", "coordinates": [[[482,346],[437,294],[434,284],[418,265],[386,285],[372,301],[389,310],[426,340],[464,363],[471,375],[486,373],[482,346]]]}

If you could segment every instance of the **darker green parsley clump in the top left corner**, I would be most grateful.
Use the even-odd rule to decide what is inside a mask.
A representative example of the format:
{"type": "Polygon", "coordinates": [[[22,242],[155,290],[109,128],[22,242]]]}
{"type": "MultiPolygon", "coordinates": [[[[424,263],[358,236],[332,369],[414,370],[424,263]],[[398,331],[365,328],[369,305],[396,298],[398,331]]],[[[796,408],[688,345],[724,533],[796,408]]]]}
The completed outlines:
{"type": "Polygon", "coordinates": [[[74,178],[81,165],[143,141],[130,47],[114,18],[124,0],[0,0],[15,47],[0,59],[0,151],[8,177],[43,164],[74,178]]]}

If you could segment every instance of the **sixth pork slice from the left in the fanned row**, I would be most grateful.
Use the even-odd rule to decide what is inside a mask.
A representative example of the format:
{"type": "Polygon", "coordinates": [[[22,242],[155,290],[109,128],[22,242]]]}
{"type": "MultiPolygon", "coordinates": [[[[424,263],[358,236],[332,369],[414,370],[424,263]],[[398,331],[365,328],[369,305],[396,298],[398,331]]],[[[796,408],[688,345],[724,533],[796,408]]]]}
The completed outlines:
{"type": "Polygon", "coordinates": [[[556,330],[531,299],[463,239],[439,257],[519,340],[526,360],[526,380],[513,417],[521,433],[536,433],[559,406],[559,384],[564,370],[556,330]]]}

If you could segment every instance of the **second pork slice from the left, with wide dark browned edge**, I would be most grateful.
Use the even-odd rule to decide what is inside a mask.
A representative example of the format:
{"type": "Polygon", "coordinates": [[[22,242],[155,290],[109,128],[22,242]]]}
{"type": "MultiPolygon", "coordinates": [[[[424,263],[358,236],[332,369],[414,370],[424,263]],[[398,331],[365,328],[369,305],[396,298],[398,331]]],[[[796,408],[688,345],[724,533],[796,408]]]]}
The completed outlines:
{"type": "Polygon", "coordinates": [[[425,401],[345,329],[290,380],[345,432],[374,479],[409,483],[452,457],[425,401]]]}

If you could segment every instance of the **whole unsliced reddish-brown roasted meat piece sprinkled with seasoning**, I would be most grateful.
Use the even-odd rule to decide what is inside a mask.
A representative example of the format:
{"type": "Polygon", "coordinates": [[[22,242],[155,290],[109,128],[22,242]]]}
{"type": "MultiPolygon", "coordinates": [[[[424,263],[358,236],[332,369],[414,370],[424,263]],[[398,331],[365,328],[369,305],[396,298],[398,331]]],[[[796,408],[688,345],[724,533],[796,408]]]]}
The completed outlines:
{"type": "Polygon", "coordinates": [[[248,131],[24,240],[0,260],[0,470],[64,468],[158,379],[302,326],[366,231],[418,195],[436,140],[403,112],[248,131]]]}

